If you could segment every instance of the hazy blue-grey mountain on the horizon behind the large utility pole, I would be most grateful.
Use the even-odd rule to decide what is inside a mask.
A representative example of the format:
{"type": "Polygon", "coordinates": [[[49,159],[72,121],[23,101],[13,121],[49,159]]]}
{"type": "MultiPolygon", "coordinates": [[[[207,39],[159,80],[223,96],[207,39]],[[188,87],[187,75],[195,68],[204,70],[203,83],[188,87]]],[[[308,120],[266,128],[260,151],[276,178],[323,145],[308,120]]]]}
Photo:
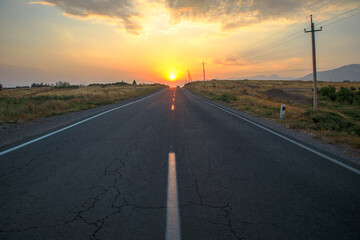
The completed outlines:
{"type": "MultiPolygon", "coordinates": [[[[313,80],[312,73],[299,78],[300,80],[313,80]]],[[[345,65],[340,68],[333,70],[317,72],[318,81],[329,81],[329,82],[342,82],[348,81],[360,81],[360,64],[345,65]]]]}

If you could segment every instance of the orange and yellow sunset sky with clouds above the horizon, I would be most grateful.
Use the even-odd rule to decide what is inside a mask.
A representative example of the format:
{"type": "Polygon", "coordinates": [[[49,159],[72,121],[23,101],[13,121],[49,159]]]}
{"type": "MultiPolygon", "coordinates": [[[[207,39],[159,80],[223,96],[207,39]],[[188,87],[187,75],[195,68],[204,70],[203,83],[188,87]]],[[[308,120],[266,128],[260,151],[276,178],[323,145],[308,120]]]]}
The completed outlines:
{"type": "Polygon", "coordinates": [[[301,77],[309,15],[324,26],[321,71],[360,63],[359,12],[359,0],[0,0],[0,83],[182,85],[202,61],[207,79],[301,77]]]}

